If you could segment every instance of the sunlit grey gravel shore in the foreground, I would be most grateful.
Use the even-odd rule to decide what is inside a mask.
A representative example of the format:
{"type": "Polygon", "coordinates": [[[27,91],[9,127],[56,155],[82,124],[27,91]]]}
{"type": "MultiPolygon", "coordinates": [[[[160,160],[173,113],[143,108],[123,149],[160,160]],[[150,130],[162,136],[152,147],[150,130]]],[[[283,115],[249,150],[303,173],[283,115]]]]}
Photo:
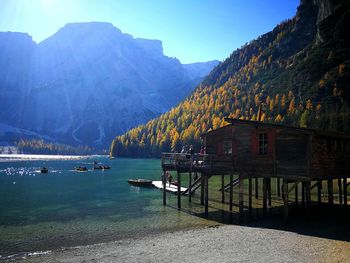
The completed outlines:
{"type": "Polygon", "coordinates": [[[350,242],[219,226],[53,251],[20,262],[350,262],[350,242]]]}

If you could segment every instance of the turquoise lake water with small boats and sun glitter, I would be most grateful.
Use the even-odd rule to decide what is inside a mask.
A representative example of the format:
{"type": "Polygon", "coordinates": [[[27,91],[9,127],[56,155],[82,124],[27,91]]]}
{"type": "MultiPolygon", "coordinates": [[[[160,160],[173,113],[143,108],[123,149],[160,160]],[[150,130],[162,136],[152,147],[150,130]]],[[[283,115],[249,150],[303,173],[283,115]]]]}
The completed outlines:
{"type": "Polygon", "coordinates": [[[127,183],[160,176],[158,159],[1,160],[0,259],[215,223],[175,209],[175,195],[163,206],[160,190],[127,183]],[[112,169],[72,170],[94,160],[112,169]]]}

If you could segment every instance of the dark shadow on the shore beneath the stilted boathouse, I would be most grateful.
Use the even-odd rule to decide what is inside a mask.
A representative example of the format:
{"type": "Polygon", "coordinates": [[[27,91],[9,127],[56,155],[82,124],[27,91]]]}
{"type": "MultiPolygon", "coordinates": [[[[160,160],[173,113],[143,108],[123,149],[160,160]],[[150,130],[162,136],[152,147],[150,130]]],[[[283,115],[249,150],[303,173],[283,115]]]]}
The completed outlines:
{"type": "Polygon", "coordinates": [[[307,236],[350,241],[350,205],[312,204],[309,209],[291,207],[286,221],[282,211],[283,207],[273,207],[266,216],[263,216],[262,209],[253,209],[251,215],[246,209],[241,222],[237,212],[230,213],[224,210],[215,210],[209,211],[207,215],[205,213],[193,213],[186,209],[184,212],[220,224],[268,228],[307,236]]]}

